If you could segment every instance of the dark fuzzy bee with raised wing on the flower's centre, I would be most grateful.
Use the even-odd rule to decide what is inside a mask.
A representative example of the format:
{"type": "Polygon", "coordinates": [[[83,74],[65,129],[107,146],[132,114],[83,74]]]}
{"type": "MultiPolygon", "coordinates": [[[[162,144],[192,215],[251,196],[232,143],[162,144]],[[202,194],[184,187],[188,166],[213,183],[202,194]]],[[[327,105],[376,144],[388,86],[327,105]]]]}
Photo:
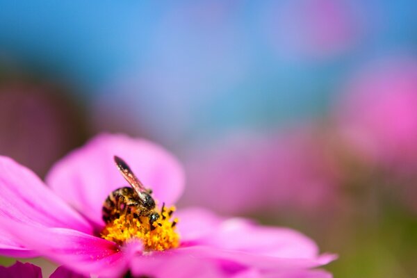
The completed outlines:
{"type": "Polygon", "coordinates": [[[150,229],[155,229],[153,224],[159,219],[159,214],[155,211],[152,190],[143,186],[122,158],[114,156],[114,160],[117,169],[131,186],[118,188],[108,195],[102,209],[104,222],[112,222],[120,217],[120,213],[132,213],[137,219],[147,217],[150,229]]]}

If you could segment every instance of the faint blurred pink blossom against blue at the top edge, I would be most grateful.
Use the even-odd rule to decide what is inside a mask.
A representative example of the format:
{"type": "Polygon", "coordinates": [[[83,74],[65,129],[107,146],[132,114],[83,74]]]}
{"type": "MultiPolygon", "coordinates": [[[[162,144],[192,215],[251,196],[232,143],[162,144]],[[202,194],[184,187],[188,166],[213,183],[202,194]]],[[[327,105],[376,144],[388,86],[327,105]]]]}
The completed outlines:
{"type": "Polygon", "coordinates": [[[267,6],[265,25],[272,46],[290,58],[327,58],[358,44],[373,17],[361,15],[363,4],[345,0],[294,0],[267,6]]]}

